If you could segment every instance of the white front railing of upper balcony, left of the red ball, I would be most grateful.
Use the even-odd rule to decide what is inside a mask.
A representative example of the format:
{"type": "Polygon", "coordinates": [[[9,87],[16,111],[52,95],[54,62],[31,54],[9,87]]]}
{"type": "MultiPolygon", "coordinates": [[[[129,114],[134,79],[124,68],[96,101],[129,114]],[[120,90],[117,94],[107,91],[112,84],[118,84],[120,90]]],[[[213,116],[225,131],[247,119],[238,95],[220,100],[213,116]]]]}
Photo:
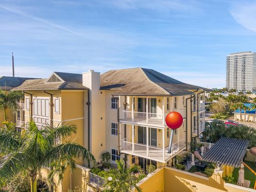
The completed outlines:
{"type": "Polygon", "coordinates": [[[146,124],[157,124],[164,125],[164,120],[162,115],[155,113],[145,113],[130,110],[121,110],[120,120],[129,122],[140,122],[146,124]]]}

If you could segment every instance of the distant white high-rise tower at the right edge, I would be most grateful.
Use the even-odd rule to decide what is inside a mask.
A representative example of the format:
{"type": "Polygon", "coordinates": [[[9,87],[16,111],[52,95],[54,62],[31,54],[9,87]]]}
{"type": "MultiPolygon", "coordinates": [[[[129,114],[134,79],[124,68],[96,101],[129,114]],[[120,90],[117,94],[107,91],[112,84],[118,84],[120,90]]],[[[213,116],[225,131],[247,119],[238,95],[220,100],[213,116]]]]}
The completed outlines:
{"type": "Polygon", "coordinates": [[[256,91],[256,53],[239,52],[227,56],[227,88],[256,91]]]}

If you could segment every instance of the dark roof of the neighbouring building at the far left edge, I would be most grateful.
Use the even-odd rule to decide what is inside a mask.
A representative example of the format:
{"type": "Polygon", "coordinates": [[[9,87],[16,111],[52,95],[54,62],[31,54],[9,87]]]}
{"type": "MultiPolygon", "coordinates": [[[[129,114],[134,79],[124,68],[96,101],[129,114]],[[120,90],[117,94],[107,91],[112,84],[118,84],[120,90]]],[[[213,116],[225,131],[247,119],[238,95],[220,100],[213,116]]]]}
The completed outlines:
{"type": "Polygon", "coordinates": [[[10,91],[14,87],[21,85],[27,79],[35,79],[30,77],[0,77],[0,90],[10,91]]]}

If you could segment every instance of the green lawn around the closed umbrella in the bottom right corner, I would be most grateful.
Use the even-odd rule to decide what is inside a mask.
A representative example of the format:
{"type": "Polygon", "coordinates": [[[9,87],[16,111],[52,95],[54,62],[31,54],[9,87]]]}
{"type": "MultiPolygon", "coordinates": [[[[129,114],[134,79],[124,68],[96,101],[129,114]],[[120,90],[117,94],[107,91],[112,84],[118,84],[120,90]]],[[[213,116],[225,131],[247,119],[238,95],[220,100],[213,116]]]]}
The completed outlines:
{"type": "MultiPolygon", "coordinates": [[[[254,162],[244,161],[244,163],[249,165],[252,168],[252,170],[254,170],[254,162]]],[[[235,178],[236,182],[238,179],[238,171],[239,168],[235,168],[233,171],[233,177],[235,178]]],[[[250,188],[253,189],[256,176],[249,169],[247,169],[246,166],[244,166],[244,179],[251,181],[250,188]]]]}

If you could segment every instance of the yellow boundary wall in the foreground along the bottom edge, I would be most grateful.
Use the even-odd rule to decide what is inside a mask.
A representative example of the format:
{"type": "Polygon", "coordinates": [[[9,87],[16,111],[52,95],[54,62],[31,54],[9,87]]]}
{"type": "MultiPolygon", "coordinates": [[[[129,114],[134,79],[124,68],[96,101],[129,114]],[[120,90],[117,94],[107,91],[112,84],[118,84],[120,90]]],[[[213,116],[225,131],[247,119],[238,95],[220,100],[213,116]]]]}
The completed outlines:
{"type": "Polygon", "coordinates": [[[185,171],[163,167],[139,185],[143,191],[182,191],[182,192],[218,192],[247,191],[235,185],[225,184],[221,175],[214,173],[212,177],[203,177],[185,171]],[[162,180],[164,180],[164,183],[162,180]]]}

